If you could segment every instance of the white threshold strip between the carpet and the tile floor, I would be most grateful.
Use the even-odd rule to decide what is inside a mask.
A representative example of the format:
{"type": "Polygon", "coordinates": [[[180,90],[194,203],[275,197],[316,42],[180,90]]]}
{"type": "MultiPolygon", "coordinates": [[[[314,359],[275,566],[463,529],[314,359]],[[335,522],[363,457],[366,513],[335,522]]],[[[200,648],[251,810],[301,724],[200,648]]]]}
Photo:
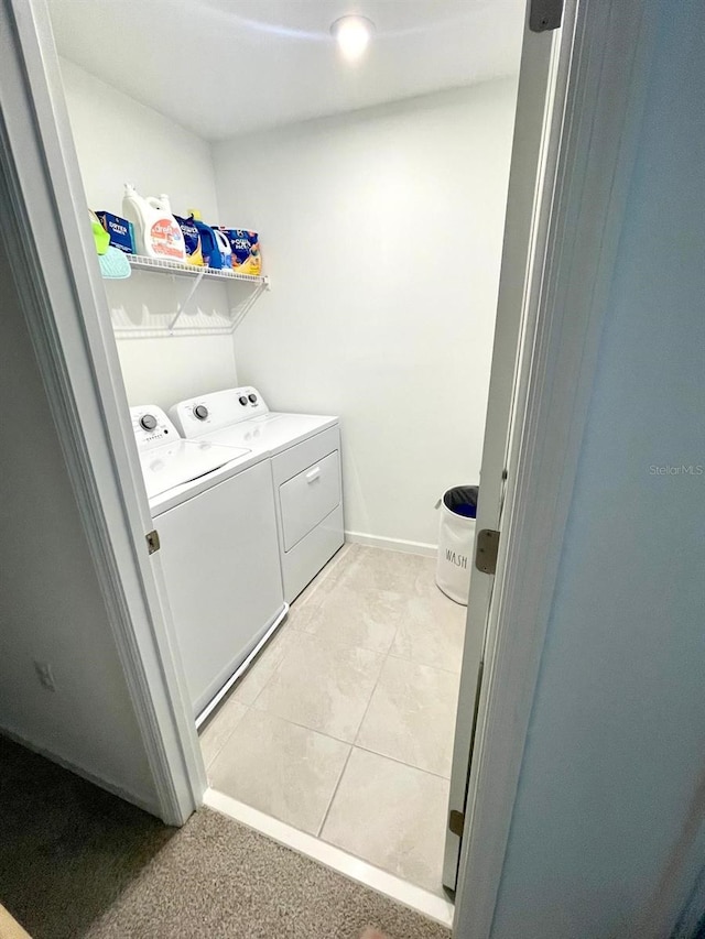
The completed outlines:
{"type": "Polygon", "coordinates": [[[434,919],[443,926],[453,925],[453,904],[448,899],[444,899],[437,894],[431,893],[423,887],[417,887],[415,884],[410,884],[408,881],[402,881],[401,877],[389,874],[387,871],[381,871],[373,864],[362,861],[360,858],[355,858],[336,848],[334,844],[328,844],[327,841],[321,841],[313,834],[307,834],[304,831],[299,831],[286,822],[280,821],[272,816],[246,806],[245,802],[234,799],[231,796],[226,796],[224,793],[218,793],[216,789],[206,789],[204,795],[204,805],[220,815],[239,821],[248,828],[254,829],[272,841],[284,844],[292,851],[312,858],[319,864],[337,871],[339,874],[362,884],[366,887],[371,887],[377,893],[397,900],[397,903],[408,906],[410,909],[427,916],[429,919],[434,919]]]}

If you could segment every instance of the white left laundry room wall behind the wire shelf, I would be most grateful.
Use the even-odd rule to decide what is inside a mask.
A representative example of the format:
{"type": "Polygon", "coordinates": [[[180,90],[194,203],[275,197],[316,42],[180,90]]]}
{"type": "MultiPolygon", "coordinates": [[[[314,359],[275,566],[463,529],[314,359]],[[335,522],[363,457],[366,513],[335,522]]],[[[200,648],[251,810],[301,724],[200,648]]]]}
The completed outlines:
{"type": "MultiPolygon", "coordinates": [[[[162,114],[62,59],[62,77],[88,205],[121,215],[126,182],[142,195],[167,193],[180,215],[200,208],[218,220],[210,148],[162,114]]],[[[188,285],[135,272],[130,281],[107,283],[112,307],[133,321],[175,310],[188,285]]],[[[198,306],[228,307],[223,284],[204,283],[198,306]]],[[[164,407],[184,397],[236,384],[230,337],[165,337],[118,341],[130,404],[164,407]]]]}

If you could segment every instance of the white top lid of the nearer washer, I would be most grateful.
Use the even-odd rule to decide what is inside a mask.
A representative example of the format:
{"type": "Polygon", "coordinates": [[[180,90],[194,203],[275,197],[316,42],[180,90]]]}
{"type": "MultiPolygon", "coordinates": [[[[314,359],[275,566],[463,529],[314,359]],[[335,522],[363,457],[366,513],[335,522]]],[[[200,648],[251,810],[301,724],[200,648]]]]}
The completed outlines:
{"type": "Polygon", "coordinates": [[[207,440],[174,440],[140,454],[147,495],[191,482],[249,454],[243,447],[225,447],[207,440]]]}

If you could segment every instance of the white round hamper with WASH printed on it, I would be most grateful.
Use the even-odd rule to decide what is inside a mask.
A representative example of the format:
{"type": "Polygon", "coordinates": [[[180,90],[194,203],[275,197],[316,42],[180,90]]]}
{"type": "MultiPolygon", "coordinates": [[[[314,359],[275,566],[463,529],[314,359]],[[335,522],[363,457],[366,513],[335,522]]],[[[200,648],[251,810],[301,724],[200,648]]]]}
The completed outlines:
{"type": "Polygon", "coordinates": [[[436,583],[446,597],[466,607],[475,545],[477,492],[477,485],[455,485],[436,503],[436,509],[441,509],[436,583]]]}

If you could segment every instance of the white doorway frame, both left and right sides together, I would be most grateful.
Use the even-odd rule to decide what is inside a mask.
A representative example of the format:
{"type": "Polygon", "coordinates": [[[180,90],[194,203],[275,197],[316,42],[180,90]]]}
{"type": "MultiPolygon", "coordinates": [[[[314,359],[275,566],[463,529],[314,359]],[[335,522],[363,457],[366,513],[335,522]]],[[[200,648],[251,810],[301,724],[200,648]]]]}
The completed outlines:
{"type": "MultiPolygon", "coordinates": [[[[50,18],[43,0],[2,3],[2,26],[15,52],[0,63],[0,166],[15,215],[4,237],[19,259],[23,313],[94,549],[159,814],[180,825],[203,804],[207,782],[170,641],[159,555],[147,554],[149,504],[108,341],[99,267],[76,210],[83,192],[50,18]]],[[[545,209],[551,199],[551,221],[541,291],[527,312],[533,345],[519,378],[525,406],[512,444],[490,607],[455,914],[454,931],[464,939],[489,936],[501,881],[638,143],[641,112],[634,102],[646,89],[652,29],[642,6],[581,0],[577,7],[558,172],[542,204],[545,209]],[[532,550],[536,542],[545,546],[541,553],[532,550]]]]}

